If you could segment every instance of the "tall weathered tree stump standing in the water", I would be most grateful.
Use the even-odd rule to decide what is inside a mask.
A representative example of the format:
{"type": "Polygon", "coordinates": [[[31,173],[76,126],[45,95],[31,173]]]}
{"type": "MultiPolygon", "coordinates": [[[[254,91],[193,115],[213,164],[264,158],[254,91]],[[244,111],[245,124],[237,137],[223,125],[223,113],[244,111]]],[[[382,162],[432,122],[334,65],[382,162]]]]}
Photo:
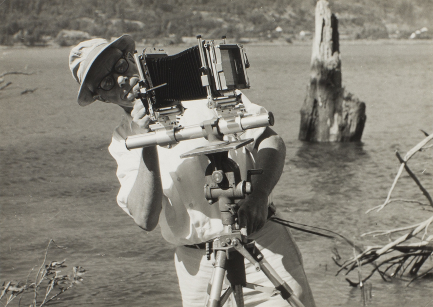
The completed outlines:
{"type": "Polygon", "coordinates": [[[338,20],[328,1],[317,1],[310,83],[301,108],[299,140],[356,142],[361,140],[365,103],[344,94],[338,20]]]}

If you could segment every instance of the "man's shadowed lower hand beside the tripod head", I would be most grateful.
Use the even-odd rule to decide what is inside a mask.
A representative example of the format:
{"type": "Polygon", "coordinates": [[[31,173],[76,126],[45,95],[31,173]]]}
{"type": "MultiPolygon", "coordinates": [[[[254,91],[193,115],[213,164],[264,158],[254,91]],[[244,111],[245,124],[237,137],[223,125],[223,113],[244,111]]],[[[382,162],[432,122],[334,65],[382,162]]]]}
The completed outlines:
{"type": "Polygon", "coordinates": [[[247,228],[247,234],[260,230],[268,218],[268,195],[266,193],[253,193],[244,200],[239,201],[237,216],[239,226],[247,228]]]}

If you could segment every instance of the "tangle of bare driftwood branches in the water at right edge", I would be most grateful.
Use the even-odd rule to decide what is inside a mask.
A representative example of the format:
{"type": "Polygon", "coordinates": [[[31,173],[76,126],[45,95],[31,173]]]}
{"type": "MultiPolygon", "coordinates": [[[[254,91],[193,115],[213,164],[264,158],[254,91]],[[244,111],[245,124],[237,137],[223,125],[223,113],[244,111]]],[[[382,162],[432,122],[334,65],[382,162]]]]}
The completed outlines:
{"type": "MultiPolygon", "coordinates": [[[[423,133],[426,134],[424,131],[423,133]]],[[[430,206],[433,207],[433,201],[432,201],[432,197],[430,196],[430,193],[421,184],[421,182],[418,180],[416,175],[407,165],[407,162],[413,157],[413,155],[416,152],[425,149],[426,144],[432,140],[433,140],[433,134],[427,135],[427,137],[423,141],[421,141],[416,146],[414,146],[411,150],[409,150],[404,156],[404,158],[402,158],[401,155],[398,152],[396,152],[397,159],[400,162],[400,168],[397,172],[397,175],[394,178],[394,182],[391,186],[391,189],[388,192],[387,199],[382,205],[376,206],[368,210],[367,213],[371,212],[374,209],[380,211],[386,205],[390,204],[393,201],[411,202],[419,205],[426,205],[418,201],[411,201],[405,199],[394,199],[394,200],[391,199],[391,194],[394,191],[394,187],[398,179],[400,178],[403,169],[406,170],[409,176],[420,188],[423,195],[429,201],[430,206]]],[[[375,272],[378,272],[382,277],[382,279],[385,281],[391,281],[396,276],[402,277],[403,274],[409,272],[410,275],[415,276],[410,281],[410,283],[412,283],[413,280],[424,276],[427,272],[433,269],[433,268],[429,268],[427,272],[418,275],[418,271],[425,264],[427,259],[429,259],[433,255],[433,235],[430,236],[428,235],[429,226],[432,223],[433,223],[433,215],[430,218],[426,219],[425,221],[414,225],[398,227],[391,230],[375,230],[375,231],[370,231],[362,234],[361,236],[374,235],[374,237],[376,237],[376,236],[383,236],[383,235],[391,235],[392,233],[396,233],[396,232],[408,231],[404,235],[398,237],[397,239],[393,240],[392,242],[384,246],[368,246],[365,248],[364,251],[360,252],[357,255],[354,255],[354,257],[345,261],[342,264],[338,264],[338,262],[335,261],[334,259],[334,261],[340,266],[340,268],[337,271],[337,274],[339,274],[342,271],[345,271],[345,274],[347,275],[351,271],[354,271],[357,268],[359,282],[354,283],[349,279],[347,279],[347,281],[351,286],[356,286],[356,287],[362,286],[363,283],[365,283],[365,281],[369,279],[375,272]],[[420,234],[422,234],[422,236],[419,237],[418,235],[420,234]],[[416,238],[418,238],[419,241],[413,242],[413,239],[416,238]],[[365,266],[367,264],[374,265],[374,269],[370,272],[370,274],[367,277],[361,279],[359,278],[360,267],[365,266]]]]}

